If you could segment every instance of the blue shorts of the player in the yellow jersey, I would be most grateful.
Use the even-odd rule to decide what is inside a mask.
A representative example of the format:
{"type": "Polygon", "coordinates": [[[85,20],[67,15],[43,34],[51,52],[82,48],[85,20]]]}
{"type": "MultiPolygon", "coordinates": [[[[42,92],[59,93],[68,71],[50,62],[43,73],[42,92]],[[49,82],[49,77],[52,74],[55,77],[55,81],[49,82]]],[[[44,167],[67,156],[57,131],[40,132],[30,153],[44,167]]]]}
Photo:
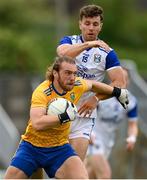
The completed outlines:
{"type": "Polygon", "coordinates": [[[75,155],[77,154],[70,144],[42,148],[22,141],[10,165],[22,170],[28,177],[38,168],[44,168],[47,175],[53,178],[64,161],[75,155]]]}

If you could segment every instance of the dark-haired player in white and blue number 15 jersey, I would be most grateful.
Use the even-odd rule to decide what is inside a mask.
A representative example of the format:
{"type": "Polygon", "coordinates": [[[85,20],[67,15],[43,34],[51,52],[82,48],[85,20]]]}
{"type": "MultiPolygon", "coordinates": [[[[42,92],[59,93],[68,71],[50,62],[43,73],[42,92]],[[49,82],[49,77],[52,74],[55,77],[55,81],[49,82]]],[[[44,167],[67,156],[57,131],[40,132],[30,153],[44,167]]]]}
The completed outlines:
{"type": "MultiPolygon", "coordinates": [[[[103,9],[100,6],[82,7],[79,14],[81,34],[63,37],[57,47],[57,53],[59,56],[76,57],[78,76],[103,81],[107,73],[112,86],[125,87],[123,71],[115,51],[99,38],[102,25],[103,9]]],[[[79,117],[72,123],[70,143],[82,160],[85,158],[90,133],[97,116],[94,110],[97,104],[94,93],[88,92],[84,95],[78,104],[79,117]]]]}

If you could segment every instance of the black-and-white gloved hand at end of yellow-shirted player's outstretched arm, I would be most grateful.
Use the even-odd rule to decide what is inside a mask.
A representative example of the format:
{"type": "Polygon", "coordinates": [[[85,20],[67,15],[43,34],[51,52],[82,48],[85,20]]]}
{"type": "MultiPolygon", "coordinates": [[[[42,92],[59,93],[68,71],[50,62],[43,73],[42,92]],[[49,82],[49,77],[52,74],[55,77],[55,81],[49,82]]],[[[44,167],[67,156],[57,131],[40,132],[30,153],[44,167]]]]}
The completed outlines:
{"type": "Polygon", "coordinates": [[[117,100],[120,102],[120,104],[123,106],[124,109],[127,109],[127,106],[129,104],[127,89],[120,89],[114,87],[112,95],[117,98],[117,100]]]}

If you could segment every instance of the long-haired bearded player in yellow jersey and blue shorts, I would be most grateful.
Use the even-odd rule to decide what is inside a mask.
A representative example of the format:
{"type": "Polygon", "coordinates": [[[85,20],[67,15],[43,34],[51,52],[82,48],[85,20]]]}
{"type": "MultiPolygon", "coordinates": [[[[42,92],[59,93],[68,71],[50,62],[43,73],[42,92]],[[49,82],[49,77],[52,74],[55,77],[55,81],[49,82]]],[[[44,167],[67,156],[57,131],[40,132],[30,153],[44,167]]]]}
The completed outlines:
{"type": "Polygon", "coordinates": [[[55,97],[63,97],[76,104],[83,93],[94,91],[116,96],[126,107],[127,90],[104,83],[76,78],[77,66],[69,57],[58,57],[47,70],[47,80],[33,92],[30,119],[20,145],[11,160],[5,178],[29,178],[38,168],[43,168],[50,178],[88,179],[81,159],[68,142],[70,114],[47,115],[48,103],[55,97]]]}

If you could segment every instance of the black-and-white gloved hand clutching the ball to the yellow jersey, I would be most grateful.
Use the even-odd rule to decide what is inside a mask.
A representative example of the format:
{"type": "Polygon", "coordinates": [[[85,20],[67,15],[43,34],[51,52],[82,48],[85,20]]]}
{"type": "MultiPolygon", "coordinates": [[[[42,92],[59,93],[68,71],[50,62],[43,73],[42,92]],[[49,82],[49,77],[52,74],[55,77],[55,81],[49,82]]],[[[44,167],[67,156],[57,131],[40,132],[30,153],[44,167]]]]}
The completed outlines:
{"type": "Polygon", "coordinates": [[[77,114],[76,106],[70,101],[67,101],[65,112],[58,115],[60,123],[64,124],[68,121],[73,121],[76,117],[76,114],[77,114]]]}

